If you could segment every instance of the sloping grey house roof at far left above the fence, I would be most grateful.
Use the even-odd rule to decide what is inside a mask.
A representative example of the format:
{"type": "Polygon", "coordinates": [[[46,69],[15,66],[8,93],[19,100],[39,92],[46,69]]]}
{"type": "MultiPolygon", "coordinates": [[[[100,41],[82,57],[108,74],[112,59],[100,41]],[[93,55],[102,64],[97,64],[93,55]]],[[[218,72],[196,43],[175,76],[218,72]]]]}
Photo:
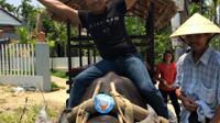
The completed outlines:
{"type": "Polygon", "coordinates": [[[0,25],[22,25],[22,22],[12,15],[10,12],[6,11],[4,9],[0,8],[0,25]]]}

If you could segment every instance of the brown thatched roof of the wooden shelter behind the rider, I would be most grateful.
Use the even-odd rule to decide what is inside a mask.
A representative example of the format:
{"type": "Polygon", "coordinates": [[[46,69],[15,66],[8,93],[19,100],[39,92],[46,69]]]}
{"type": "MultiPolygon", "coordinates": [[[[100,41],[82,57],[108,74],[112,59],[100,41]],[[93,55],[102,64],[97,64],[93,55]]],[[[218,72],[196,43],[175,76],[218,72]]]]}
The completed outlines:
{"type": "MultiPolygon", "coordinates": [[[[87,9],[86,0],[59,0],[72,8],[87,9]]],[[[111,0],[112,1],[112,0],[111,0]]],[[[169,23],[177,13],[177,7],[173,0],[138,0],[130,10],[130,14],[146,20],[150,4],[154,4],[154,24],[156,29],[162,29],[169,23]]]]}

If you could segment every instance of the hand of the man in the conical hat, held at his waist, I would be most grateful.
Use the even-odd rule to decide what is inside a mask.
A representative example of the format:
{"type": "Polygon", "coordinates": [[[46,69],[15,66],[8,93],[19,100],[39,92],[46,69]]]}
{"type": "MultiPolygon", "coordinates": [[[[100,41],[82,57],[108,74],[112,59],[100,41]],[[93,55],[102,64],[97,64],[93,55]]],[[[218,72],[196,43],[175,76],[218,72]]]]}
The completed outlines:
{"type": "Polygon", "coordinates": [[[198,108],[198,104],[196,103],[195,99],[193,99],[191,97],[182,97],[182,102],[184,107],[190,112],[196,111],[198,108]]]}

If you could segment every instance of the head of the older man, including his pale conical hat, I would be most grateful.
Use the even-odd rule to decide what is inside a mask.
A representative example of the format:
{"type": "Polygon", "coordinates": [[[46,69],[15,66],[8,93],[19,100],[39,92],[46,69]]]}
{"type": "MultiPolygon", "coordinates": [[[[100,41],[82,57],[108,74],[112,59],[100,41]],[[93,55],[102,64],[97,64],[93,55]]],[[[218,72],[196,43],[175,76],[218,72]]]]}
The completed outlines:
{"type": "Polygon", "coordinates": [[[195,13],[182,24],[170,37],[180,37],[193,51],[204,49],[212,35],[219,34],[220,29],[199,13],[195,13]]]}

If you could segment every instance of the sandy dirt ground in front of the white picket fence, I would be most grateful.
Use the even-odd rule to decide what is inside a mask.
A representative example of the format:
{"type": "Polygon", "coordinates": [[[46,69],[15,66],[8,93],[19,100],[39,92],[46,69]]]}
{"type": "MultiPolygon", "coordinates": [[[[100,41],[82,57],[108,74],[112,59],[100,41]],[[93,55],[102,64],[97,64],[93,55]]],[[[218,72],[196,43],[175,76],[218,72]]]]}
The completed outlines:
{"type": "Polygon", "coordinates": [[[66,80],[52,77],[52,81],[62,87],[62,89],[52,92],[41,92],[37,90],[14,92],[14,89],[18,87],[0,85],[0,113],[30,105],[47,105],[62,111],[68,98],[66,80]]]}

